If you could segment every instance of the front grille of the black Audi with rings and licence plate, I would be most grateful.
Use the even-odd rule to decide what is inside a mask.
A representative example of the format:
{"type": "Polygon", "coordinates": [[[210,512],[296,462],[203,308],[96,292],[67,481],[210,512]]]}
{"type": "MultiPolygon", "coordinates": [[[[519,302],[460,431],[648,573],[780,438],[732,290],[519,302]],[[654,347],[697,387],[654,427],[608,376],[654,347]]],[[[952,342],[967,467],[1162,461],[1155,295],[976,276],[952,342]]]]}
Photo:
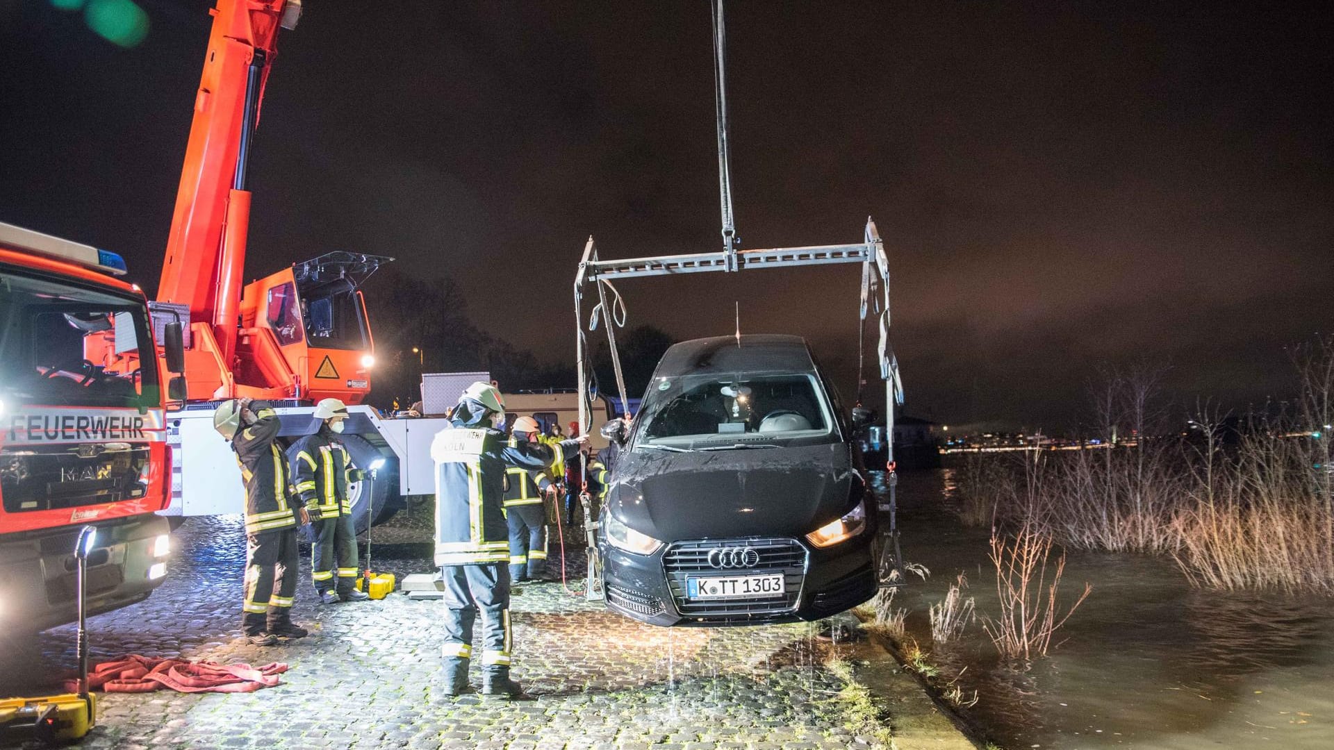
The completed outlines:
{"type": "Polygon", "coordinates": [[[796,539],[752,538],[752,539],[700,539],[674,542],[663,552],[663,573],[671,589],[676,611],[683,617],[723,617],[743,618],[746,615],[767,615],[796,609],[806,579],[807,551],[796,539]],[[751,567],[719,570],[708,563],[708,552],[716,547],[750,547],[759,552],[759,562],[751,567]],[[782,573],[782,597],[751,597],[746,599],[690,601],[686,597],[686,579],[704,575],[752,575],[782,573]]]}

